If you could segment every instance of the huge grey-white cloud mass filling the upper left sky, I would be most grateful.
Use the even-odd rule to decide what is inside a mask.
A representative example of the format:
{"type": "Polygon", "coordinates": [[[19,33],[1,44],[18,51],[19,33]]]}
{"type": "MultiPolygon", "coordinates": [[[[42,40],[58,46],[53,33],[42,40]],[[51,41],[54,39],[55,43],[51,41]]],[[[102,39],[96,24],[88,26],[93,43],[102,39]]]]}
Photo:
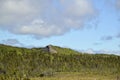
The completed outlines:
{"type": "Polygon", "coordinates": [[[91,0],[0,0],[0,28],[14,34],[62,35],[95,15],[91,0]]]}

